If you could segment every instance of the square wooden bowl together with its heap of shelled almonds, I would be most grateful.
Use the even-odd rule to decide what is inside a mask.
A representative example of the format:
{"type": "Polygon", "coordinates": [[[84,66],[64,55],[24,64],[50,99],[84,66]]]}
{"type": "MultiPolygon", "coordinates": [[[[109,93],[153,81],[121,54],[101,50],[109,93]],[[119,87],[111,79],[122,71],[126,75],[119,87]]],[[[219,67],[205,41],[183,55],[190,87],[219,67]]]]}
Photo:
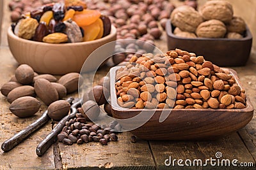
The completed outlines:
{"type": "Polygon", "coordinates": [[[131,129],[141,139],[216,139],[253,117],[236,71],[195,53],[176,49],[133,56],[110,75],[113,117],[132,120],[125,127],[141,124],[131,129]]]}

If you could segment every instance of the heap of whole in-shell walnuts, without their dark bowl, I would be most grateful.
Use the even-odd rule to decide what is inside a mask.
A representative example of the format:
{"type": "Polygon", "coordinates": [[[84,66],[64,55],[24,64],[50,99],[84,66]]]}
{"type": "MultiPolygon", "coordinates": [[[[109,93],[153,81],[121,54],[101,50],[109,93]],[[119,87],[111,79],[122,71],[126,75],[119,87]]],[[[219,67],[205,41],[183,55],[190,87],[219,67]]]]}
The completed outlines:
{"type": "Polygon", "coordinates": [[[179,6],[171,15],[176,27],[173,33],[185,38],[241,39],[246,24],[234,16],[232,4],[227,1],[207,1],[199,11],[190,6],[179,6]]]}

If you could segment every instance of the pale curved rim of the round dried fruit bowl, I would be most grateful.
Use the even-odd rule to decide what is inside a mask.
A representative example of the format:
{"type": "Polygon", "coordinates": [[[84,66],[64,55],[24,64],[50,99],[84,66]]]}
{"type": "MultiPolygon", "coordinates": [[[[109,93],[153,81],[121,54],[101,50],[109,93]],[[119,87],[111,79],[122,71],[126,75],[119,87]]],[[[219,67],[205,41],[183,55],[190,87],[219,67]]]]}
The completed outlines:
{"type": "Polygon", "coordinates": [[[32,41],[29,39],[24,39],[24,38],[19,38],[18,36],[16,36],[13,31],[12,31],[12,27],[8,27],[8,31],[7,31],[7,36],[20,41],[21,43],[31,43],[31,44],[35,44],[35,45],[44,45],[44,46],[54,46],[54,47],[58,47],[58,46],[77,46],[77,45],[92,45],[94,43],[100,43],[101,41],[106,41],[109,38],[112,38],[113,36],[116,36],[116,27],[114,25],[111,25],[111,31],[108,34],[108,36],[104,36],[103,38],[100,39],[95,39],[92,41],[84,41],[84,42],[79,42],[79,43],[59,43],[59,44],[54,44],[54,43],[44,43],[44,42],[38,42],[38,41],[32,41]]]}

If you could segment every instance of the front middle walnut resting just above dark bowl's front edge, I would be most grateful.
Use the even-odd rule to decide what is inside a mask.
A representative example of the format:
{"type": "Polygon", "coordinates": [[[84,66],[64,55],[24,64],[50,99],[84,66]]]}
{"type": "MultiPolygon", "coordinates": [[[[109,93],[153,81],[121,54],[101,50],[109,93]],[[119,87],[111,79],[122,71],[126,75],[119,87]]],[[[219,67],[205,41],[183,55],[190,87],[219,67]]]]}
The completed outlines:
{"type": "Polygon", "coordinates": [[[220,20],[207,20],[196,29],[196,35],[202,38],[223,38],[226,32],[226,26],[220,20]]]}

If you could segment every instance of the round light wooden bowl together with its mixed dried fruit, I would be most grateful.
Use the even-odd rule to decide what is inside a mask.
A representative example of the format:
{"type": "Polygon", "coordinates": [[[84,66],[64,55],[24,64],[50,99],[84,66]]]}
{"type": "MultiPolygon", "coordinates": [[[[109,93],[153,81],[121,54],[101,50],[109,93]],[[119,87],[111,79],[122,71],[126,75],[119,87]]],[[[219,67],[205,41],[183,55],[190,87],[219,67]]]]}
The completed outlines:
{"type": "MultiPolygon", "coordinates": [[[[28,64],[38,73],[66,74],[80,72],[90,53],[115,41],[116,28],[107,16],[86,9],[83,2],[79,6],[65,2],[45,4],[29,12],[12,24],[7,34],[19,64],[28,64]]],[[[95,57],[99,59],[100,55],[95,57]]],[[[86,70],[97,67],[97,62],[92,62],[86,70]]]]}

